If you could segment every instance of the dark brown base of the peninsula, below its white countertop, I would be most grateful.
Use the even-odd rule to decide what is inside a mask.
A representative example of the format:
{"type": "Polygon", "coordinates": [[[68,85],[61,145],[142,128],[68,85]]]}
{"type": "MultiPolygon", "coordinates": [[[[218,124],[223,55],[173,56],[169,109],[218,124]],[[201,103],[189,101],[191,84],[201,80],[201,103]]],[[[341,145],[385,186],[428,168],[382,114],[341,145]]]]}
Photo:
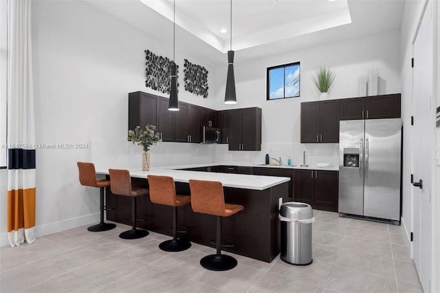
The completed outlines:
{"type": "MultiPolygon", "coordinates": [[[[148,187],[146,179],[132,177],[131,182],[134,187],[148,187]]],[[[176,182],[175,185],[177,194],[190,195],[187,183],[176,182]]],[[[273,261],[280,252],[278,200],[282,197],[283,202],[288,201],[285,196],[287,185],[285,182],[263,191],[224,187],[225,202],[241,204],[244,210],[222,219],[222,240],[233,245],[222,250],[261,261],[273,261]]],[[[131,197],[113,195],[110,188],[107,188],[106,194],[107,204],[115,206],[115,209],[107,210],[107,219],[131,226],[131,197]]],[[[215,247],[212,243],[215,239],[215,216],[194,213],[190,204],[179,207],[178,215],[179,226],[186,228],[186,232],[179,233],[180,238],[215,247]]],[[[147,195],[137,197],[137,217],[138,228],[171,235],[172,207],[153,204],[147,195]]]]}

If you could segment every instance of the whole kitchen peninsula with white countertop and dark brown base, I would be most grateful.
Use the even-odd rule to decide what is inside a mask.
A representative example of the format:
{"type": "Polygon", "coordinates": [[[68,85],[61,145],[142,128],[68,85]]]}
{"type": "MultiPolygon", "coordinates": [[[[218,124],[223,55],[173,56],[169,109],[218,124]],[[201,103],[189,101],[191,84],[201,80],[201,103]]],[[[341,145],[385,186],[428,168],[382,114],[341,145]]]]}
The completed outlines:
{"type": "MultiPolygon", "coordinates": [[[[271,262],[279,253],[280,226],[278,204],[280,199],[287,202],[290,178],[232,173],[208,173],[173,169],[153,169],[151,171],[129,170],[131,182],[135,187],[148,187],[147,175],[166,175],[173,177],[176,192],[190,195],[188,180],[219,181],[223,184],[225,202],[241,204],[241,213],[224,218],[222,223],[222,250],[241,254],[253,259],[271,262]]],[[[107,170],[97,173],[107,175],[107,170]]],[[[206,191],[208,194],[209,191],[206,191]]],[[[107,188],[107,219],[122,224],[131,224],[131,198],[113,195],[107,188]]],[[[171,235],[170,226],[173,210],[168,206],[153,204],[148,196],[137,199],[138,228],[144,228],[164,235],[171,235]]],[[[194,213],[190,205],[179,210],[179,237],[205,246],[214,247],[215,217],[194,213]]]]}

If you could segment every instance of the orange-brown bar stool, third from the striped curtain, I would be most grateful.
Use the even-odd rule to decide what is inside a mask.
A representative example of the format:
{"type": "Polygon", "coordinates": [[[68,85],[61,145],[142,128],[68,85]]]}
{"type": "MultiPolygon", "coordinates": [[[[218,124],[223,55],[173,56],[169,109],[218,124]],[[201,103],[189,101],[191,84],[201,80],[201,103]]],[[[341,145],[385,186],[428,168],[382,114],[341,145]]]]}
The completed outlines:
{"type": "Polygon", "coordinates": [[[177,252],[187,250],[191,247],[190,241],[177,238],[177,208],[191,202],[191,197],[176,195],[176,188],[173,177],[148,175],[150,186],[150,199],[154,204],[173,206],[173,239],[159,244],[164,251],[177,252]]]}

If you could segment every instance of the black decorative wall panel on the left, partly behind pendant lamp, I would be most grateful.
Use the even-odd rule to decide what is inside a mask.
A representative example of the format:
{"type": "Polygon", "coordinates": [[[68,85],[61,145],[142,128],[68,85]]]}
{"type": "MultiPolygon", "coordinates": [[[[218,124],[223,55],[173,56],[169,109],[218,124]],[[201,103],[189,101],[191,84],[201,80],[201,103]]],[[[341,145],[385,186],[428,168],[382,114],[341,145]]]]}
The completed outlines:
{"type": "MultiPolygon", "coordinates": [[[[162,91],[162,93],[170,94],[170,75],[173,61],[168,57],[157,56],[149,50],[145,51],[145,60],[145,86],[156,91],[162,91]]],[[[179,65],[177,65],[176,76],[178,80],[179,65]]],[[[179,83],[177,83],[177,91],[179,91],[179,83]]]]}

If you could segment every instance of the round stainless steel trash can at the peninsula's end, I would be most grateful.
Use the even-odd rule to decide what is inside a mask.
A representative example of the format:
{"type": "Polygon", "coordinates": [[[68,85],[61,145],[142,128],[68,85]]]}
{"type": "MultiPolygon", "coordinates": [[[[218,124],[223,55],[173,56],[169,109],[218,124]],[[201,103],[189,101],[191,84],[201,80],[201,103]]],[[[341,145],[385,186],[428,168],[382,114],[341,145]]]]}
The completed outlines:
{"type": "Polygon", "coordinates": [[[280,208],[281,259],[293,265],[309,265],[311,223],[315,221],[309,204],[286,202],[280,208]]]}

